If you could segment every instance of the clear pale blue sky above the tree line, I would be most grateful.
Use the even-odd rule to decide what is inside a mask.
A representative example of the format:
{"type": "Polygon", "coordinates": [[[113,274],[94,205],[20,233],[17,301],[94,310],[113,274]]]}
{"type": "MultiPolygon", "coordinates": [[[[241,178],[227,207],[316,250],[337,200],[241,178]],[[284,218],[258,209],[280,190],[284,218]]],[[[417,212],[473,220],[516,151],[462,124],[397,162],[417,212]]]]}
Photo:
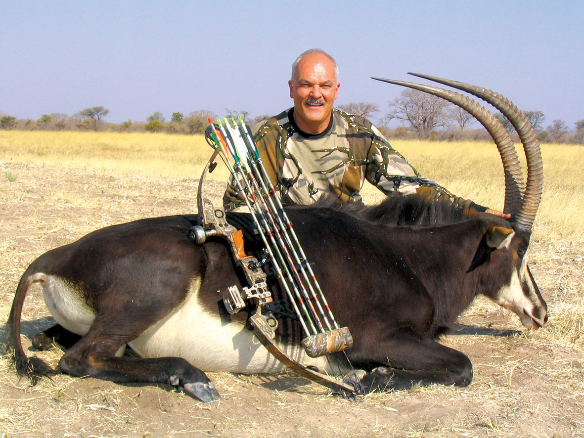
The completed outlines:
{"type": "Polygon", "coordinates": [[[5,1],[0,113],[37,119],[89,106],[106,120],[292,105],[294,58],[337,60],[338,104],[387,112],[398,86],[433,74],[491,88],[570,127],[584,119],[581,1],[5,1]]]}

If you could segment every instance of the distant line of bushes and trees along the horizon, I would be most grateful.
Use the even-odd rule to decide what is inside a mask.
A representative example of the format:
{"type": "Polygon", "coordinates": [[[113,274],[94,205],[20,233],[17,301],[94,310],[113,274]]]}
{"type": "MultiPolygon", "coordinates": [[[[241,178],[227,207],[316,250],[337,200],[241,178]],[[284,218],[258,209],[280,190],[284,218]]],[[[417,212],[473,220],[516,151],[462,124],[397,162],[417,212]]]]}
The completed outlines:
{"type": "MultiPolygon", "coordinates": [[[[377,116],[381,109],[374,103],[351,102],[339,105],[340,109],[350,114],[373,119],[381,131],[389,138],[428,138],[430,140],[484,140],[491,138],[482,127],[471,128],[477,120],[458,106],[451,105],[444,99],[417,90],[407,89],[398,98],[389,102],[389,111],[377,116]],[[377,120],[375,120],[377,118],[377,120]],[[390,128],[392,120],[401,126],[390,128]]],[[[584,143],[584,119],[576,121],[569,127],[564,120],[553,120],[545,126],[545,114],[539,110],[524,110],[541,142],[584,143]],[[545,127],[544,127],[545,126],[545,127]]],[[[179,134],[200,134],[205,130],[210,117],[216,120],[218,114],[209,110],[195,110],[185,113],[173,112],[167,121],[159,111],[152,113],[145,121],[127,120],[122,123],[107,123],[104,118],[109,110],[103,106],[85,108],[78,113],[41,114],[37,120],[16,119],[14,116],[0,113],[0,129],[20,130],[111,130],[121,132],[150,131],[179,134]]],[[[234,111],[225,108],[224,117],[240,115],[253,126],[269,117],[263,114],[251,117],[245,110],[234,111]]],[[[223,117],[222,116],[222,117],[223,117]]],[[[513,127],[503,114],[495,117],[505,126],[509,133],[516,135],[513,127]]]]}

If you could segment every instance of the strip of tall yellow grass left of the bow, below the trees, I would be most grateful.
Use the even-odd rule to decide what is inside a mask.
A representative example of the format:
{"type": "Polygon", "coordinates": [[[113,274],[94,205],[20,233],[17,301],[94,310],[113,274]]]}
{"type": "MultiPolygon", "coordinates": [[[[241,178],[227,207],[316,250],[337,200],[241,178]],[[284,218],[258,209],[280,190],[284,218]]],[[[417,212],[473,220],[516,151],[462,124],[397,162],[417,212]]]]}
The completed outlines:
{"type": "MultiPolygon", "coordinates": [[[[0,131],[0,160],[199,178],[213,151],[203,135],[0,131]]],[[[211,178],[226,180],[218,166],[211,178]]]]}

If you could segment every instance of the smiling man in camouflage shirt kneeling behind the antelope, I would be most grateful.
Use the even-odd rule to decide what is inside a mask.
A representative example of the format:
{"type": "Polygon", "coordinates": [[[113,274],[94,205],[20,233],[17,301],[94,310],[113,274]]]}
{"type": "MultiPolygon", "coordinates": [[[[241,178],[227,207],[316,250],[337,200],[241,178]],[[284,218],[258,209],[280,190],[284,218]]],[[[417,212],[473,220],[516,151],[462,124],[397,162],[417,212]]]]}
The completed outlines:
{"type": "MultiPolygon", "coordinates": [[[[292,65],[288,86],[294,106],[253,130],[266,171],[281,194],[312,204],[323,194],[334,193],[346,203],[360,199],[367,179],[384,193],[416,192],[510,217],[455,197],[422,178],[369,120],[333,109],[340,83],[331,55],[320,49],[305,51],[292,65]]],[[[224,204],[228,210],[243,204],[232,186],[224,204]]]]}

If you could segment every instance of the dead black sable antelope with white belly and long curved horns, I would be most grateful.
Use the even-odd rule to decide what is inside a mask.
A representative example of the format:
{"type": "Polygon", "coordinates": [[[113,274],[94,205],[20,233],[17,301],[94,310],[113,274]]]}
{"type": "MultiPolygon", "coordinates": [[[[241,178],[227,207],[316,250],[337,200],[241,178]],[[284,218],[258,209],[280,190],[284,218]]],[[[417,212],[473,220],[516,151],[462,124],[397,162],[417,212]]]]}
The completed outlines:
{"type": "MultiPolygon", "coordinates": [[[[390,197],[376,207],[287,207],[336,318],[353,334],[347,358],[371,370],[357,373],[369,389],[469,384],[468,357],[435,339],[477,294],[512,310],[529,328],[547,320],[525,258],[543,185],[533,129],[492,91],[426,78],[470,92],[506,115],[526,152],[527,183],[524,188],[509,134],[478,103],[433,86],[383,79],[441,96],[481,121],[503,159],[505,211],[513,218],[470,216],[415,195],[390,197]]],[[[217,291],[241,286],[240,279],[225,242],[197,246],[189,240],[197,222],[197,215],[177,215],[113,225],[36,259],[20,279],[6,328],[6,350],[18,372],[33,378],[55,372],[27,358],[20,342],[22,305],[35,282],[58,325],[81,336],[59,362],[63,373],[166,383],[211,401],[219,396],[204,371],[283,369],[254,342],[246,312],[221,312],[217,291]],[[140,358],[116,354],[126,344],[140,358]]],[[[46,345],[54,332],[35,336],[33,345],[46,345]]],[[[350,370],[340,355],[305,356],[298,333],[293,320],[281,321],[278,340],[288,356],[329,373],[350,370]]]]}

